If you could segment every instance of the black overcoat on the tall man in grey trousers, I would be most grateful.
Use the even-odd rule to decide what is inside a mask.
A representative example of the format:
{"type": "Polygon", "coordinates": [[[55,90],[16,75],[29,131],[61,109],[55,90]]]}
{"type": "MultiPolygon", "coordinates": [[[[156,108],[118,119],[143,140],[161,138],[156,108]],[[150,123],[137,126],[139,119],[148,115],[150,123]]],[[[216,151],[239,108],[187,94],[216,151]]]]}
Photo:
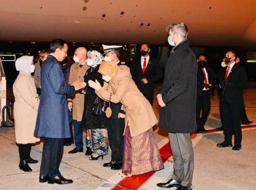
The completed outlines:
{"type": "Polygon", "coordinates": [[[158,92],[166,104],[160,108],[160,127],[176,133],[197,129],[197,71],[197,59],[187,40],[172,49],[165,65],[163,88],[158,92]]]}

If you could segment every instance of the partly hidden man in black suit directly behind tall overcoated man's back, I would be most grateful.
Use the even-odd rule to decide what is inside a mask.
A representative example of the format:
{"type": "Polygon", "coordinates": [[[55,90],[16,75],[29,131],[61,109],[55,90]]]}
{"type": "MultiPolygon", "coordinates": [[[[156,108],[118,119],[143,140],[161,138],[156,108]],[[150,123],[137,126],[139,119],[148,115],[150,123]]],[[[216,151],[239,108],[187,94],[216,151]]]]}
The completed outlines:
{"type": "Polygon", "coordinates": [[[206,65],[207,59],[204,55],[199,55],[197,62],[197,132],[203,132],[205,131],[205,122],[210,114],[210,95],[214,95],[212,82],[214,80],[215,73],[206,65]]]}

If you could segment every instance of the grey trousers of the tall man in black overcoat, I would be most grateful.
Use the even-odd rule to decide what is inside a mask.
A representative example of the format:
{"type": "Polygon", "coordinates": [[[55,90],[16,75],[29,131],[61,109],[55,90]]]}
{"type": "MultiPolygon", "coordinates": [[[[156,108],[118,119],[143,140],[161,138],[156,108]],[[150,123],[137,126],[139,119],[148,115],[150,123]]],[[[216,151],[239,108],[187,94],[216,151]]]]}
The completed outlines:
{"type": "Polygon", "coordinates": [[[172,179],[180,181],[183,186],[192,185],[194,171],[194,150],[190,133],[169,132],[170,147],[174,157],[172,179]]]}

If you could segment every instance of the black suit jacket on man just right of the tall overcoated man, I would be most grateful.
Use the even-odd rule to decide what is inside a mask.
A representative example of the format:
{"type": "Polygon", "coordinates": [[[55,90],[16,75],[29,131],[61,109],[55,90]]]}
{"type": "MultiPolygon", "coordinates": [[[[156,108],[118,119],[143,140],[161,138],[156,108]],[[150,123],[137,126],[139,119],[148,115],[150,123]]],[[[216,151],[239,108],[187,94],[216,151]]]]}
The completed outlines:
{"type": "MultiPolygon", "coordinates": [[[[213,87],[215,73],[214,73],[214,71],[212,71],[212,69],[209,66],[206,66],[205,70],[206,70],[207,75],[208,75],[208,82],[213,87]]],[[[197,96],[199,96],[201,93],[204,93],[204,92],[207,92],[209,95],[214,95],[214,89],[213,88],[211,90],[208,90],[208,91],[203,91],[205,86],[206,85],[204,84],[203,70],[202,70],[202,68],[198,67],[198,72],[197,72],[197,96]]]]}

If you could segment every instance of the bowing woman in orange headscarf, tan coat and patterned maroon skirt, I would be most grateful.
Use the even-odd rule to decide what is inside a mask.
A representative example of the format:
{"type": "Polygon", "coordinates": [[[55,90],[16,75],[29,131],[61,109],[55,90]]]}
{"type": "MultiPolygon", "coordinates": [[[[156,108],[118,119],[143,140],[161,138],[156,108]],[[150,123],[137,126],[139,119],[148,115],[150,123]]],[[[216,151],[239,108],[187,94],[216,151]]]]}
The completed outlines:
{"type": "MultiPolygon", "coordinates": [[[[89,86],[103,100],[121,102],[125,112],[122,177],[163,169],[152,129],[157,124],[157,118],[150,102],[135,85],[129,67],[103,62],[98,72],[109,82],[108,89],[92,80],[89,86]]],[[[119,116],[123,117],[122,114],[119,116]]]]}

